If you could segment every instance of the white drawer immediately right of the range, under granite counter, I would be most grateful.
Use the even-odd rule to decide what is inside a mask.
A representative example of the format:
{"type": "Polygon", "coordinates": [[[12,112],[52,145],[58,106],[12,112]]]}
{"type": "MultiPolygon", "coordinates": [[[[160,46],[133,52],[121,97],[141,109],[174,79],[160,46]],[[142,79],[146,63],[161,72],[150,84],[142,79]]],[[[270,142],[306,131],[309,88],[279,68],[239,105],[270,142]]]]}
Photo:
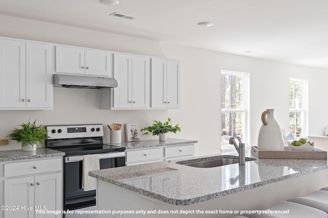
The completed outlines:
{"type": "Polygon", "coordinates": [[[162,149],[131,151],[127,152],[127,162],[156,160],[162,156],[162,149]]]}

